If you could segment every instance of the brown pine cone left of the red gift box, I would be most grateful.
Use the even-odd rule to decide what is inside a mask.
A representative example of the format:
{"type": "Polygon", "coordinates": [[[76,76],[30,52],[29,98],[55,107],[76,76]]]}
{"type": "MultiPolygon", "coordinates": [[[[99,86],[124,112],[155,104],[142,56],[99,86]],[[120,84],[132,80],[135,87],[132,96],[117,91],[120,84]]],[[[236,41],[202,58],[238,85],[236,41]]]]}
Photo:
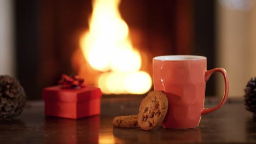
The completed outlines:
{"type": "Polygon", "coordinates": [[[0,75],[0,117],[20,115],[26,104],[26,94],[20,82],[8,75],[0,75]]]}

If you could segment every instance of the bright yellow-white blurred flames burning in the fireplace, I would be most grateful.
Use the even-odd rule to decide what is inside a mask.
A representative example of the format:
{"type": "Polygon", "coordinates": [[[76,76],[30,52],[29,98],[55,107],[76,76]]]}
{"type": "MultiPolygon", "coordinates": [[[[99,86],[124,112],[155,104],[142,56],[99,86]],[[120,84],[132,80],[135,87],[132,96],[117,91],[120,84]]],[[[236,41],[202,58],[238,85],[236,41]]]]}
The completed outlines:
{"type": "Polygon", "coordinates": [[[80,46],[90,66],[103,73],[98,86],[103,93],[143,94],[152,87],[152,79],[141,69],[141,55],[133,49],[129,28],[121,19],[120,0],[95,0],[89,31],[80,46]]]}

